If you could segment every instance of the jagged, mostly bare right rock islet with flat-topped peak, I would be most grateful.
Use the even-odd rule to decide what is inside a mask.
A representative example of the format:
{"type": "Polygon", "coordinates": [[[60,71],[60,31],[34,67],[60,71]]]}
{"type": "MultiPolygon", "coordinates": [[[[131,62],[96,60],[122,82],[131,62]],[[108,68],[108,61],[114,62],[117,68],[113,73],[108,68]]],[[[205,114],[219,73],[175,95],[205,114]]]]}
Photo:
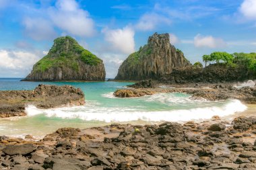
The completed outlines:
{"type": "Polygon", "coordinates": [[[157,34],[148,38],[148,44],[130,54],[119,68],[116,80],[158,79],[191,65],[183,52],[170,44],[169,34],[157,34]]]}

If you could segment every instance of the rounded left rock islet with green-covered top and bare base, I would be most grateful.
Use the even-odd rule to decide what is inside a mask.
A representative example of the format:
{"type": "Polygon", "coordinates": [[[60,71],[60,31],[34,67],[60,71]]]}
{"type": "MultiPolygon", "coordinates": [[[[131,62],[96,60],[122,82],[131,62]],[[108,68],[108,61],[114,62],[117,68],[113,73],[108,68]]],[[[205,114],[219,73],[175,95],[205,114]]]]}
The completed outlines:
{"type": "Polygon", "coordinates": [[[100,58],[70,36],[57,38],[49,53],[36,62],[24,81],[104,81],[100,58]]]}

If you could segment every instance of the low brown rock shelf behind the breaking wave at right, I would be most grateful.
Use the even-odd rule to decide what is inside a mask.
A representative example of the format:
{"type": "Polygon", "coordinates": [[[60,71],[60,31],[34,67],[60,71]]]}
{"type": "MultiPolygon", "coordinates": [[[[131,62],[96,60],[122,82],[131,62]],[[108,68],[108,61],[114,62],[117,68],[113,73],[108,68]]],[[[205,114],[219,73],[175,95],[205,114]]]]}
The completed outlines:
{"type": "Polygon", "coordinates": [[[207,99],[209,101],[220,101],[225,99],[239,99],[244,103],[256,103],[256,87],[242,87],[236,88],[230,84],[226,85],[212,85],[208,84],[199,86],[199,84],[193,84],[193,86],[187,87],[174,87],[166,86],[164,88],[156,87],[154,83],[144,83],[141,86],[140,83],[130,85],[129,89],[117,89],[114,92],[116,97],[141,97],[144,95],[154,95],[156,93],[187,93],[192,95],[191,99],[202,100],[207,99]],[[141,88],[150,87],[150,88],[141,88]],[[152,88],[156,87],[156,88],[152,88]]]}

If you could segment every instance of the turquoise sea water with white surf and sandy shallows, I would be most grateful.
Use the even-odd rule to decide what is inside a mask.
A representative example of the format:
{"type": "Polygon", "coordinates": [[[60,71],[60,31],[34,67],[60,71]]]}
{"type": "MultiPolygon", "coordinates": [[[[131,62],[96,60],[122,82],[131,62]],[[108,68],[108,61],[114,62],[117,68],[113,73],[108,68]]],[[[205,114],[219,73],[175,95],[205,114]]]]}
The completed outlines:
{"type": "Polygon", "coordinates": [[[123,82],[24,82],[0,79],[0,90],[34,89],[38,84],[73,85],[85,93],[86,104],[72,108],[41,110],[26,107],[28,116],[0,120],[0,135],[41,138],[62,127],[89,128],[113,122],[156,124],[163,121],[201,121],[212,116],[231,116],[247,110],[241,101],[193,101],[184,93],[159,93],[152,96],[117,98],[116,89],[131,83],[123,82]]]}

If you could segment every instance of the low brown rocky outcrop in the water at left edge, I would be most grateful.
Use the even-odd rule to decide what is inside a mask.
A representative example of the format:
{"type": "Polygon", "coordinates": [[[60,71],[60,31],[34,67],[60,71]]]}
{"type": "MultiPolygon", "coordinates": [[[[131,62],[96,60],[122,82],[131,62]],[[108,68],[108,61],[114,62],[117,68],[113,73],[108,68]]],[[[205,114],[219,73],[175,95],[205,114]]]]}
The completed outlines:
{"type": "Polygon", "coordinates": [[[0,118],[26,116],[26,105],[48,109],[84,103],[83,91],[70,85],[38,85],[34,90],[0,91],[0,118]]]}

